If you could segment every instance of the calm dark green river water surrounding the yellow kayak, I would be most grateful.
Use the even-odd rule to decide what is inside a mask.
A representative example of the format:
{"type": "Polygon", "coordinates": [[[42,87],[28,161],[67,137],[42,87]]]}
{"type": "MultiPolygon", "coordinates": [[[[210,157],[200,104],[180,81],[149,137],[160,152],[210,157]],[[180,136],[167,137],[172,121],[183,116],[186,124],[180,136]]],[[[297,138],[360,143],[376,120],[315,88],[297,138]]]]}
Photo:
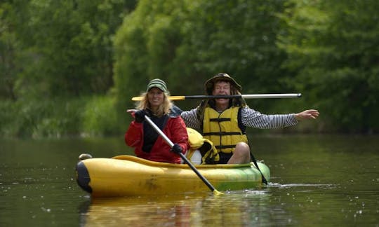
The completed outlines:
{"type": "Polygon", "coordinates": [[[0,226],[379,226],[379,136],[250,141],[268,186],[93,200],[75,181],[78,156],[132,154],[122,137],[0,139],[0,226]]]}

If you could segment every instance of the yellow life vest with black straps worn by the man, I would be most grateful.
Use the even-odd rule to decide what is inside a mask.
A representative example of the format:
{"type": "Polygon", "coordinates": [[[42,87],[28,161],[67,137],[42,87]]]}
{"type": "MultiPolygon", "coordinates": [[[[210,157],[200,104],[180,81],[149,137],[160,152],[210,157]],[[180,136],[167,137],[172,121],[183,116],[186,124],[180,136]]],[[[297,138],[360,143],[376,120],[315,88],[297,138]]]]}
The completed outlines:
{"type": "Polygon", "coordinates": [[[203,136],[213,142],[218,152],[231,153],[239,142],[248,139],[238,125],[238,106],[232,106],[221,114],[206,107],[203,120],[203,136]]]}

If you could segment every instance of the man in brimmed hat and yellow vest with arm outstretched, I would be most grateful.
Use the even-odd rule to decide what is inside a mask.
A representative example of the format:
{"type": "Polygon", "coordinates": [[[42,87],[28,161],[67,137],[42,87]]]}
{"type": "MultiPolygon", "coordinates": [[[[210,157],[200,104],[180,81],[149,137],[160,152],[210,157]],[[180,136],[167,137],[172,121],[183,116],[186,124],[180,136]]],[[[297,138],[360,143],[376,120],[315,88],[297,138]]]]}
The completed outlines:
{"type": "MultiPolygon", "coordinates": [[[[220,73],[205,83],[208,95],[241,95],[239,85],[228,74],[220,73]]],[[[188,128],[202,133],[218,150],[218,164],[250,163],[246,127],[284,128],[299,121],[316,119],[319,111],[309,109],[298,114],[265,115],[250,109],[244,99],[209,99],[196,109],[181,114],[188,128]]]]}

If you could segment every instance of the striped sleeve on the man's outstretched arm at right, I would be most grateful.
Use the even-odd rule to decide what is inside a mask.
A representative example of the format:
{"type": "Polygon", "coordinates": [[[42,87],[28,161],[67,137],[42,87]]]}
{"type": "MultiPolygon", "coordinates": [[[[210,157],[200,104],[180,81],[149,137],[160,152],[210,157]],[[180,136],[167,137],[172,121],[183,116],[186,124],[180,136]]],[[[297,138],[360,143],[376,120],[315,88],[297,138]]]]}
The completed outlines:
{"type": "Polygon", "coordinates": [[[295,114],[260,114],[248,107],[241,109],[241,121],[246,127],[260,129],[285,128],[298,124],[295,114]]]}

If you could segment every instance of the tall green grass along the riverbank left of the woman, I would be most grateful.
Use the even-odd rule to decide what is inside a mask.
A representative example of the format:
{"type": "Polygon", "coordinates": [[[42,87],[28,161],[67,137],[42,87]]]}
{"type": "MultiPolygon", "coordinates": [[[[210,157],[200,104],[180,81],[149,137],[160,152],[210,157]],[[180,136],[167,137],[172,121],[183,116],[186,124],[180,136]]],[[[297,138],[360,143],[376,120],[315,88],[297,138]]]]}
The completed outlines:
{"type": "Polygon", "coordinates": [[[109,97],[0,102],[0,137],[111,135],[119,130],[109,97]]]}

